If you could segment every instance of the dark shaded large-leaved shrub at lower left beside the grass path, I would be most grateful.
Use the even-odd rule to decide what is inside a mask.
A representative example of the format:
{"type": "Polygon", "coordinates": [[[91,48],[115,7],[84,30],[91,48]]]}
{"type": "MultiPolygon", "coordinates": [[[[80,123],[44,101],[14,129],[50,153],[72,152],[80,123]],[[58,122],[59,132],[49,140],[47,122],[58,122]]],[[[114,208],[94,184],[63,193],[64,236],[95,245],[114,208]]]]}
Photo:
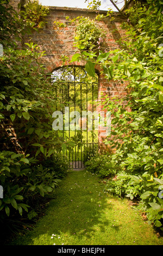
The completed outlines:
{"type": "Polygon", "coordinates": [[[36,164],[34,157],[24,157],[11,151],[0,154],[3,198],[0,199],[0,218],[11,216],[23,210],[28,211],[33,200],[45,196],[58,185],[59,179],[41,164],[36,164]]]}

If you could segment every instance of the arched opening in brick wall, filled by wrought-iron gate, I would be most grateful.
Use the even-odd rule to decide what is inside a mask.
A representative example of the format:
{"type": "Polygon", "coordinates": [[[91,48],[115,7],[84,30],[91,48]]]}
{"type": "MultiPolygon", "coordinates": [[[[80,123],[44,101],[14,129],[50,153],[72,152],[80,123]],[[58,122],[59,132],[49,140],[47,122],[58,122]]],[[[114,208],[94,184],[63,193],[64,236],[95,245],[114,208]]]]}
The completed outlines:
{"type": "Polygon", "coordinates": [[[59,100],[53,129],[76,143],[65,155],[73,168],[84,168],[98,150],[98,75],[89,76],[83,66],[65,66],[53,71],[52,82],[59,100]]]}

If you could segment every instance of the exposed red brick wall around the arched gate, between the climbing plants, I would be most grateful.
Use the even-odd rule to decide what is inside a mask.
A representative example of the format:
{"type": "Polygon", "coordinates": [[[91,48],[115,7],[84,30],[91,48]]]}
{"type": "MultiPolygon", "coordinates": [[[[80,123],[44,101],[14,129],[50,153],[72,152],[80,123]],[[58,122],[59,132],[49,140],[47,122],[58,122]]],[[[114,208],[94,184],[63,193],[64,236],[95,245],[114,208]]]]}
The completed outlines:
{"type": "MultiPolygon", "coordinates": [[[[14,3],[18,2],[18,0],[12,1],[14,3]]],[[[101,13],[106,14],[106,11],[101,11],[101,13]]],[[[58,28],[54,26],[54,21],[67,22],[66,16],[74,19],[78,16],[94,18],[96,15],[96,11],[87,9],[50,7],[49,15],[46,17],[46,27],[40,33],[34,33],[30,36],[31,41],[38,44],[42,51],[46,51],[46,56],[43,57],[43,63],[46,65],[48,71],[53,71],[63,65],[62,56],[68,56],[70,60],[73,54],[76,53],[76,48],[73,47],[74,25],[58,28]]],[[[109,17],[107,17],[98,22],[98,25],[106,31],[105,47],[108,51],[118,48],[116,40],[120,39],[124,34],[124,31],[121,29],[122,20],[123,18],[117,14],[116,19],[113,21],[110,21],[109,17]]],[[[84,63],[76,62],[71,65],[84,65],[84,63]]],[[[105,95],[109,94],[110,97],[115,95],[122,97],[126,94],[123,84],[115,81],[108,82],[103,75],[99,75],[99,101],[102,102],[103,97],[101,96],[101,92],[105,95]]],[[[99,111],[101,107],[102,105],[98,107],[99,111]]],[[[105,137],[102,136],[102,132],[99,129],[100,149],[106,149],[103,143],[104,139],[105,137]]]]}

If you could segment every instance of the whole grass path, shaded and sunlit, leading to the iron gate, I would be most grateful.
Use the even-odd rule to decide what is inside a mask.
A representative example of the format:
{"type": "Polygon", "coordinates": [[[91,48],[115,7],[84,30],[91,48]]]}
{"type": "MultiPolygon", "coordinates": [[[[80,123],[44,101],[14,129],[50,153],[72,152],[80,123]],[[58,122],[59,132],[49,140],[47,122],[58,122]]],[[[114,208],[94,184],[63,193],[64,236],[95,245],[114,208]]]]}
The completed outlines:
{"type": "Polygon", "coordinates": [[[14,245],[163,245],[127,199],[104,193],[104,183],[72,171],[55,190],[45,216],[14,245]],[[53,237],[53,238],[51,238],[53,237]]]}

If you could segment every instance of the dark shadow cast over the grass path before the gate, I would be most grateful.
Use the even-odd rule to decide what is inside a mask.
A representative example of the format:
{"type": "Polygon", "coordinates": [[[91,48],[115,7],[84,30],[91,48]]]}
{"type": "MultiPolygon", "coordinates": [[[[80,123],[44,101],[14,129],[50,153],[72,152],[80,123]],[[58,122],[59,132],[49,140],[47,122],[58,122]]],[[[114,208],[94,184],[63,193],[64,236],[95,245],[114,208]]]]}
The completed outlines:
{"type": "Polygon", "coordinates": [[[85,170],[71,172],[55,191],[45,216],[21,243],[48,244],[55,234],[64,237],[64,242],[67,238],[68,243],[75,240],[80,244],[80,241],[93,239],[95,233],[106,233],[109,226],[118,230],[116,223],[112,225],[112,216],[104,217],[105,211],[112,211],[112,204],[108,204],[103,189],[104,184],[85,170]]]}

